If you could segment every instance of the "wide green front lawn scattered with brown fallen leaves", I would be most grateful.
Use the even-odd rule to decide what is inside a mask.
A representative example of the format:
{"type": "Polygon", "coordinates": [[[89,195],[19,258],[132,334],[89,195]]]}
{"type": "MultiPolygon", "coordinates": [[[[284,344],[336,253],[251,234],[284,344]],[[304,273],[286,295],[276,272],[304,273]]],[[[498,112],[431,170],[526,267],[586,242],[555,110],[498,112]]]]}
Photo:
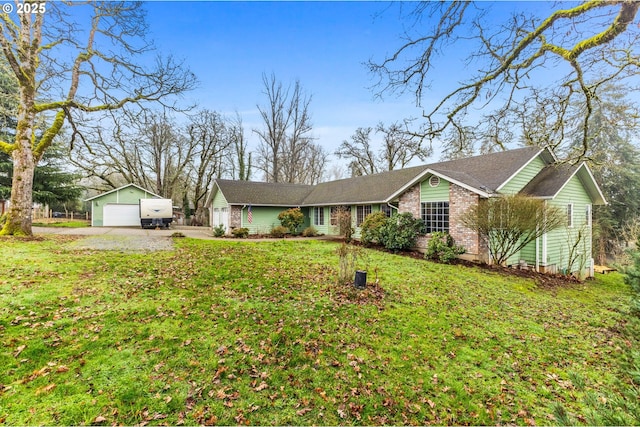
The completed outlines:
{"type": "Polygon", "coordinates": [[[71,239],[0,240],[0,423],[640,422],[617,274],[548,289],[367,251],[357,291],[329,242],[71,239]]]}

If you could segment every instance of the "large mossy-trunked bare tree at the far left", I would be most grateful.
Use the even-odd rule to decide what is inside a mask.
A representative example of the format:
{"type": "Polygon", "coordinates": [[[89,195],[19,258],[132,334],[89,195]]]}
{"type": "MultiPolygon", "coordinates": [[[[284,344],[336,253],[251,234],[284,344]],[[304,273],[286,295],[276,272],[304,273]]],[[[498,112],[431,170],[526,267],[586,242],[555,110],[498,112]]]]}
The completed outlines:
{"type": "Polygon", "coordinates": [[[39,13],[0,13],[2,55],[20,89],[15,140],[0,141],[15,171],[0,234],[32,234],[35,166],[65,123],[72,143],[80,135],[78,112],[166,103],[170,95],[193,87],[192,73],[171,58],[158,58],[149,68],[136,63],[151,51],[142,7],[137,2],[41,2],[39,13]],[[70,7],[89,16],[88,27],[70,20],[70,7]],[[74,59],[67,62],[70,55],[74,59]],[[45,123],[43,132],[39,122],[45,123]]]}

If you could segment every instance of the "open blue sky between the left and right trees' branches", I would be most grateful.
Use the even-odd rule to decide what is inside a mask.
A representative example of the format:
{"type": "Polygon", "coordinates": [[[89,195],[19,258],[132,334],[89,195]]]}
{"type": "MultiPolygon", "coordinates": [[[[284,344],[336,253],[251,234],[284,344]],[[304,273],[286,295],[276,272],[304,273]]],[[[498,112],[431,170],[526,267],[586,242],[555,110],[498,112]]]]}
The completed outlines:
{"type": "Polygon", "coordinates": [[[314,136],[333,152],[357,127],[416,116],[411,95],[374,99],[364,63],[398,46],[402,22],[387,2],[150,2],[151,38],[200,79],[187,96],[200,106],[241,113],[246,135],[261,127],[262,73],[298,79],[312,95],[314,136]],[[386,11],[385,11],[386,10],[386,11]],[[384,12],[384,13],[383,13],[384,12]]]}

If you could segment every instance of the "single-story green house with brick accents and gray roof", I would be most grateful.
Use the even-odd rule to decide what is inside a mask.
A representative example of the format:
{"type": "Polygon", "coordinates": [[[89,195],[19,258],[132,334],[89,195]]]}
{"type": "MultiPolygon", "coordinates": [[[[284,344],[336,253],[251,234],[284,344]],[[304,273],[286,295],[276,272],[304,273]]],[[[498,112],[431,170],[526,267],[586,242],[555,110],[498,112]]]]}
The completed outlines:
{"type": "Polygon", "coordinates": [[[592,274],[592,206],[605,204],[605,198],[585,163],[559,163],[549,148],[525,147],[317,185],[218,179],[208,206],[213,226],[222,224],[227,231],[246,227],[250,233],[268,233],[280,224],[278,213],[290,207],[302,209],[305,226],[328,235],[338,234],[340,206],[350,209],[356,236],[372,212],[389,216],[410,212],[426,225],[419,248],[426,247],[430,233],[445,231],[465,247],[466,258],[488,261],[486,244],[460,218],[482,199],[516,193],[566,210],[567,225],[532,242],[509,263],[527,263],[539,271],[592,274]],[[579,234],[583,242],[579,261],[568,265],[569,245],[579,234]]]}

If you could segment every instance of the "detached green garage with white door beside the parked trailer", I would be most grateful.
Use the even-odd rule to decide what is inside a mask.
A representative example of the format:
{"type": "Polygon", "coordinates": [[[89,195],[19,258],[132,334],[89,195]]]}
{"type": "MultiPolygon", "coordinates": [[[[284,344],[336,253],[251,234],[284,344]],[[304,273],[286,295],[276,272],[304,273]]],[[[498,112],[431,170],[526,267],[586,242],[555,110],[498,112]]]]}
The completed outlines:
{"type": "Polygon", "coordinates": [[[91,202],[92,227],[140,226],[140,199],[161,198],[135,184],[128,184],[85,200],[91,202]]]}

